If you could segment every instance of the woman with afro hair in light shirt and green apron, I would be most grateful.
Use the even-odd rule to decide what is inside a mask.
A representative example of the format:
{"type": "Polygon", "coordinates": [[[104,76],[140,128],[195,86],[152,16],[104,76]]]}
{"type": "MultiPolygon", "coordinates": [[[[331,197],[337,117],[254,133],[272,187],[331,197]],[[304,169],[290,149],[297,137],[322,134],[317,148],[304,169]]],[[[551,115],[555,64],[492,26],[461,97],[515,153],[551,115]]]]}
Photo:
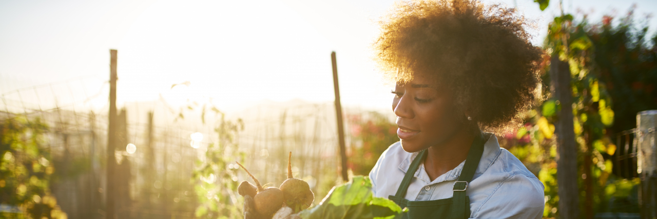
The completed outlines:
{"type": "Polygon", "coordinates": [[[411,219],[541,218],[543,184],[493,134],[520,127],[542,99],[543,53],[527,24],[477,1],[397,4],[374,48],[396,83],[401,140],[369,174],[375,196],[411,219]]]}

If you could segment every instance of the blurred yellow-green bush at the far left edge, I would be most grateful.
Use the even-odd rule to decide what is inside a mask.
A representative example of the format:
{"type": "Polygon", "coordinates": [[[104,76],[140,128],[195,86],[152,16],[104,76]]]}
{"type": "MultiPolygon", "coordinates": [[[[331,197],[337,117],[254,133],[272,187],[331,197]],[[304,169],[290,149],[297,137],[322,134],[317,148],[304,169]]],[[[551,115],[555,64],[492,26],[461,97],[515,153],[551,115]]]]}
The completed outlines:
{"type": "Polygon", "coordinates": [[[0,122],[0,218],[67,218],[49,189],[55,168],[43,138],[47,129],[40,119],[0,122]]]}

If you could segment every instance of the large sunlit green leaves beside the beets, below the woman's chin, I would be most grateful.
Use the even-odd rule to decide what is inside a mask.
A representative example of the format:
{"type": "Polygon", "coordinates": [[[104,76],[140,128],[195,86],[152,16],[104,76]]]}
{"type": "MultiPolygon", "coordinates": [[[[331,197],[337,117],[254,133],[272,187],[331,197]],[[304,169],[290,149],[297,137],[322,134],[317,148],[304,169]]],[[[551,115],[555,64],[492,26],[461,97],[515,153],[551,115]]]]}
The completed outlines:
{"type": "Polygon", "coordinates": [[[299,212],[304,219],[392,219],[400,214],[401,207],[393,201],[373,197],[367,176],[354,176],[351,182],[331,189],[319,205],[299,212]]]}

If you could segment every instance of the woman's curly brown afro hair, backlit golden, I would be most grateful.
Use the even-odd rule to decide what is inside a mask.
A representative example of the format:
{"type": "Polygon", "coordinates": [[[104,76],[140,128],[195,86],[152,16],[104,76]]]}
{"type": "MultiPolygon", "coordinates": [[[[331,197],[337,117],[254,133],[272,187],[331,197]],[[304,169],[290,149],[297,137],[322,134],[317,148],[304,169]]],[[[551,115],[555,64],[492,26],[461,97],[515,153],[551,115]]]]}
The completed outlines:
{"type": "Polygon", "coordinates": [[[385,16],[373,47],[386,77],[422,74],[452,90],[480,129],[503,134],[542,101],[543,50],[515,9],[471,0],[403,1],[385,16]]]}

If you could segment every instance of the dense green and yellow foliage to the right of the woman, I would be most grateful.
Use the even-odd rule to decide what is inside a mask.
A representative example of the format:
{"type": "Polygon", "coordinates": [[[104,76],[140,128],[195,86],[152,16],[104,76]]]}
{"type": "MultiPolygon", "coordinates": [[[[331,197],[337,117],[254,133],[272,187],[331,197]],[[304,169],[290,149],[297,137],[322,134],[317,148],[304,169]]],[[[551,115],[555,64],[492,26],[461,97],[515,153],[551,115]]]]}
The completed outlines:
{"type": "MultiPolygon", "coordinates": [[[[579,144],[579,200],[587,218],[598,212],[639,212],[636,167],[630,171],[614,167],[618,163],[614,161],[620,160],[614,154],[623,145],[617,146],[613,140],[620,143],[620,132],[636,128],[637,112],[657,108],[657,36],[646,36],[646,20],[637,22],[633,9],[618,22],[613,20],[605,16],[599,24],[589,24],[586,15],[574,20],[571,14],[564,14],[551,22],[545,39],[547,52],[570,64],[574,99],[568,104],[572,104],[579,144]],[[623,174],[626,172],[629,176],[623,174]]],[[[549,60],[547,57],[543,63],[543,83],[548,85],[544,90],[549,87],[549,60]]],[[[561,103],[549,94],[547,98],[543,106],[532,110],[525,130],[516,136],[522,140],[529,135],[531,144],[506,147],[528,166],[541,163],[538,176],[546,186],[544,216],[554,218],[558,216],[558,196],[552,122],[561,103]]],[[[627,141],[631,140],[625,138],[627,141]]]]}

